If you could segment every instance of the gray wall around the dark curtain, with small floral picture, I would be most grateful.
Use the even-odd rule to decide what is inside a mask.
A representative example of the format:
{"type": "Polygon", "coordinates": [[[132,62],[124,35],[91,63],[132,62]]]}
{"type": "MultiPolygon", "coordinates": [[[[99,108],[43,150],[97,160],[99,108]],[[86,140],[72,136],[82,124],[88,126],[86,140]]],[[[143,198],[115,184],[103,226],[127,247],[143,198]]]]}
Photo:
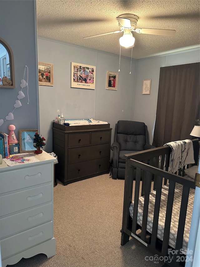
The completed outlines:
{"type": "MultiPolygon", "coordinates": [[[[143,121],[148,126],[150,144],[153,142],[153,131],[156,119],[160,67],[199,61],[199,49],[185,50],[183,52],[138,60],[133,121],[143,121]],[[142,95],[144,79],[152,80],[150,95],[142,95]]],[[[199,97],[199,95],[197,97],[199,97]]]]}

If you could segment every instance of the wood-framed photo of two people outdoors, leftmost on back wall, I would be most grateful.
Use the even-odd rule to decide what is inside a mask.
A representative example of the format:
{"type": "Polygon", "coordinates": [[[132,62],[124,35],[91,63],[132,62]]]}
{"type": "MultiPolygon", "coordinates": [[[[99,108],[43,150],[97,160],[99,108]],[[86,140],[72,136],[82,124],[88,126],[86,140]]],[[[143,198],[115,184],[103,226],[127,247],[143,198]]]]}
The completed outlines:
{"type": "Polygon", "coordinates": [[[39,85],[53,86],[53,64],[38,62],[39,85]]]}

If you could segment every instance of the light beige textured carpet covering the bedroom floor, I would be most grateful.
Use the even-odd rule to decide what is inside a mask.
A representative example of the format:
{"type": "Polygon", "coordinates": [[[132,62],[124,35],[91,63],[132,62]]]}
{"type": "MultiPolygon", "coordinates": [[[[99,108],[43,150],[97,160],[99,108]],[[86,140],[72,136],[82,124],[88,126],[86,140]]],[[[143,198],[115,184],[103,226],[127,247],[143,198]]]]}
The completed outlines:
{"type": "Polygon", "coordinates": [[[54,187],[56,255],[21,259],[15,267],[144,267],[152,256],[135,239],[121,246],[124,180],[109,174],[54,187]]]}

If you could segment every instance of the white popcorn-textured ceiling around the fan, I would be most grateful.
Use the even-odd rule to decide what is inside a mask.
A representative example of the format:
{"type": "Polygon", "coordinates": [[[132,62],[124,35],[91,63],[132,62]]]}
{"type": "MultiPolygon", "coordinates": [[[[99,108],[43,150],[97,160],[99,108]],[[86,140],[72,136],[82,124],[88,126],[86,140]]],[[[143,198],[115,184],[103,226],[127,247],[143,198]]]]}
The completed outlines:
{"type": "MultiPolygon", "coordinates": [[[[199,0],[37,0],[37,34],[88,48],[119,54],[123,33],[83,37],[119,30],[116,17],[124,13],[139,17],[136,28],[176,30],[174,37],[133,32],[133,58],[141,59],[200,41],[199,0]]],[[[121,54],[131,57],[131,49],[121,54]]]]}

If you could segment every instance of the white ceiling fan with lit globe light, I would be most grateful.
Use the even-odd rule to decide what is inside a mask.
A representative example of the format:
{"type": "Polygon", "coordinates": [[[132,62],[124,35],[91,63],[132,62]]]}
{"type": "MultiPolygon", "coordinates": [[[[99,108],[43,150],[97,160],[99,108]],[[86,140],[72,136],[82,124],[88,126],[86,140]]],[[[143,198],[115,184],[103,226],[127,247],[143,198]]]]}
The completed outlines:
{"type": "Polygon", "coordinates": [[[174,36],[176,34],[175,30],[162,30],[162,29],[146,29],[146,28],[136,28],[138,22],[138,16],[133,14],[122,14],[117,17],[120,31],[110,32],[110,33],[101,33],[93,36],[83,37],[84,39],[107,35],[111,33],[121,33],[123,36],[119,39],[121,46],[129,48],[134,46],[135,38],[133,37],[132,32],[136,33],[145,33],[145,34],[156,34],[156,35],[165,35],[165,36],[174,36]]]}

